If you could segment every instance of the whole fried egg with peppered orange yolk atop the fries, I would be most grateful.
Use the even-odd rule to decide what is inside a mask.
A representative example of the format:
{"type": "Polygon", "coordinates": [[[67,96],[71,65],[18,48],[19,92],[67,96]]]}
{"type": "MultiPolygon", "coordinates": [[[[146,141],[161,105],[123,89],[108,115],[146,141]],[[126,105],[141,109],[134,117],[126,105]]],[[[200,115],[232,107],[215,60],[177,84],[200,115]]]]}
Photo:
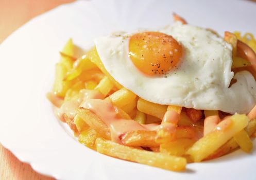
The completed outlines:
{"type": "Polygon", "coordinates": [[[177,22],[107,35],[95,46],[108,73],[147,101],[231,114],[248,113],[256,104],[253,76],[234,76],[232,47],[209,30],[177,22]]]}

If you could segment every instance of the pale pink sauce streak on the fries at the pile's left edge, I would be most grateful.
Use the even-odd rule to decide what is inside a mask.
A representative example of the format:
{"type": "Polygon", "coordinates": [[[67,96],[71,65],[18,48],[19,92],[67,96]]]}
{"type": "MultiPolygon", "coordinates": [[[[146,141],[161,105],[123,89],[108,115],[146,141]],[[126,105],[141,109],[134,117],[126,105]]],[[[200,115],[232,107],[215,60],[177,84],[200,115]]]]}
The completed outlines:
{"type": "Polygon", "coordinates": [[[64,101],[60,108],[57,110],[57,116],[60,120],[65,121],[63,115],[66,114],[69,118],[74,119],[77,114],[77,109],[83,101],[88,99],[102,99],[104,96],[97,90],[82,89],[79,92],[79,98],[64,101]]]}

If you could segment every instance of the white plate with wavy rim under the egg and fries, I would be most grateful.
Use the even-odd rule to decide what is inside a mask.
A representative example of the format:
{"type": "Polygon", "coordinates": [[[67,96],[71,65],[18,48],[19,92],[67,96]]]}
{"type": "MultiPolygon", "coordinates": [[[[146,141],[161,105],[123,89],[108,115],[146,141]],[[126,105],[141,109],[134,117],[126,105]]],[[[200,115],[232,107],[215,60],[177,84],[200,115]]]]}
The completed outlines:
{"type": "Polygon", "coordinates": [[[189,164],[181,173],[101,155],[77,142],[45,98],[58,50],[69,38],[85,48],[101,34],[172,23],[173,12],[220,34],[255,34],[255,9],[256,3],[245,1],[78,1],[36,17],[0,46],[0,142],[36,171],[58,179],[256,179],[255,150],[189,164]]]}

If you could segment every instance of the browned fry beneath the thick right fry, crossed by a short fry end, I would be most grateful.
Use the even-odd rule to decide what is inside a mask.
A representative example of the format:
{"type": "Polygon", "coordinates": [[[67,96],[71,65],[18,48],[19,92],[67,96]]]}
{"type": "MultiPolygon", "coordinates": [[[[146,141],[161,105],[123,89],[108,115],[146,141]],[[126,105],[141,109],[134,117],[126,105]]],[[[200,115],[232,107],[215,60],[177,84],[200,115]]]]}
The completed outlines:
{"type": "MultiPolygon", "coordinates": [[[[245,128],[245,131],[251,136],[256,131],[256,119],[251,119],[245,128]]],[[[234,138],[230,139],[227,143],[217,149],[213,154],[211,154],[207,159],[213,159],[219,156],[223,156],[230,151],[238,148],[238,144],[234,138]]]]}

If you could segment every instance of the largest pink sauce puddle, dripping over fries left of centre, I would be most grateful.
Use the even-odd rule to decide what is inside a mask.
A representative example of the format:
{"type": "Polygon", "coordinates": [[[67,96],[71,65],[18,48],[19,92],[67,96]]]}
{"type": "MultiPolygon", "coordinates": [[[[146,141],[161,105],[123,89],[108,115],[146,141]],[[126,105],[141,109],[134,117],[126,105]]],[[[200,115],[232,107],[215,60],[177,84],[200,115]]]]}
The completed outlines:
{"type": "Polygon", "coordinates": [[[89,99],[81,107],[94,112],[110,129],[111,139],[122,143],[120,136],[129,131],[148,130],[155,131],[159,124],[140,124],[132,119],[117,118],[114,106],[110,99],[89,99]]]}

